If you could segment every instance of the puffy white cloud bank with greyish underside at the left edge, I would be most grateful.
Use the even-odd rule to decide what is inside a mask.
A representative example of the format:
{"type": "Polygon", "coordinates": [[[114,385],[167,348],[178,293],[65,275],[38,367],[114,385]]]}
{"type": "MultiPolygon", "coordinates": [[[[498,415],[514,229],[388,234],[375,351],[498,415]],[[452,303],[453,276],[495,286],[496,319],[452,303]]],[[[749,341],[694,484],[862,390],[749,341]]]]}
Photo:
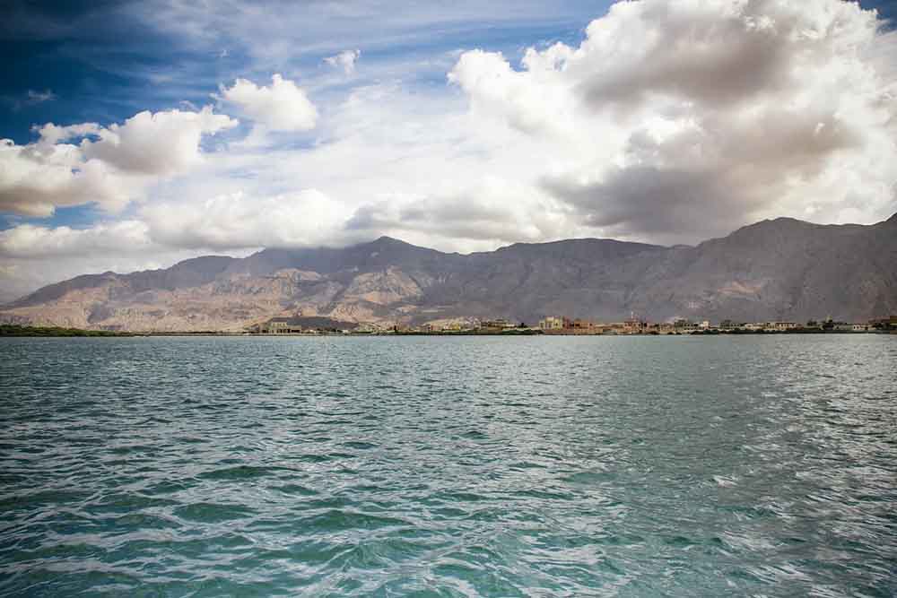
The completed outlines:
{"type": "Polygon", "coordinates": [[[109,127],[48,123],[36,128],[38,141],[25,145],[0,140],[0,212],[42,217],[88,203],[121,209],[154,180],[195,165],[204,134],[236,124],[211,108],[170,110],[109,127]]]}

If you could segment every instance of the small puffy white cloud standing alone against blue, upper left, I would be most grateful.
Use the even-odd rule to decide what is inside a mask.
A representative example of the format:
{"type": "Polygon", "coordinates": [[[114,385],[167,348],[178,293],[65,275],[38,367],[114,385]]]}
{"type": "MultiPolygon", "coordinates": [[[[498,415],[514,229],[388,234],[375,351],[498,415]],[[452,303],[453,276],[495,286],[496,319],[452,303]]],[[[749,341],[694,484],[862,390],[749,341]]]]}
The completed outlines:
{"type": "Polygon", "coordinates": [[[280,74],[268,87],[237,79],[231,87],[222,86],[221,98],[268,131],[308,131],[318,122],[318,109],[305,91],[280,74]]]}

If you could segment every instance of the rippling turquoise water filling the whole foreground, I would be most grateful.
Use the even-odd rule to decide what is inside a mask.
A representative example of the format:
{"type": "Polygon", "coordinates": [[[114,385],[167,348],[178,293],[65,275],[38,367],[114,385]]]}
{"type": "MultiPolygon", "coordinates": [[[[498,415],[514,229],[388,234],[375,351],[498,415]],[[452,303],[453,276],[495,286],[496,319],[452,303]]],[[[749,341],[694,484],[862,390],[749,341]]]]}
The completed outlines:
{"type": "Polygon", "coordinates": [[[891,596],[897,337],[0,339],[0,594],[891,596]]]}

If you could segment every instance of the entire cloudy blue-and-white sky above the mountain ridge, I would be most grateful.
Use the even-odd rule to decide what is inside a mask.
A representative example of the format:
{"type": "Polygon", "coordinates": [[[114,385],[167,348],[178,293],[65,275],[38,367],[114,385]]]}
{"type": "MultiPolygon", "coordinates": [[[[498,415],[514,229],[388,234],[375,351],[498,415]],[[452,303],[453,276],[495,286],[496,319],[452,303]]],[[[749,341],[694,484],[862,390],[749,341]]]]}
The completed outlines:
{"type": "Polygon", "coordinates": [[[381,235],[897,212],[897,3],[4,2],[0,301],[381,235]]]}

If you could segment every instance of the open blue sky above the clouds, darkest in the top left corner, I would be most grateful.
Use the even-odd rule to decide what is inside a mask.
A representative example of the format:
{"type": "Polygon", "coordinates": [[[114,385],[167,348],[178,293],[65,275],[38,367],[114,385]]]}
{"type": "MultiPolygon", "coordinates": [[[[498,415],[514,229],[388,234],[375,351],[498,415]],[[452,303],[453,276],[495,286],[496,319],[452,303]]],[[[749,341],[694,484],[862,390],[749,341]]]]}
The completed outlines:
{"type": "MultiPolygon", "coordinates": [[[[432,60],[430,67],[417,65],[401,77],[409,87],[444,88],[450,66],[447,53],[484,48],[513,58],[532,45],[577,44],[588,22],[605,13],[609,3],[494,3],[489,18],[478,10],[480,3],[434,2],[416,9],[419,14],[413,16],[417,19],[380,24],[384,13],[402,13],[408,7],[404,3],[361,2],[355,3],[353,10],[341,10],[339,4],[343,3],[302,4],[299,10],[291,6],[300,18],[288,28],[278,24],[276,36],[263,43],[276,41],[309,49],[265,59],[254,56],[258,38],[252,33],[246,37],[246,32],[226,22],[214,23],[205,36],[191,35],[188,27],[208,24],[206,14],[185,23],[186,29],[166,30],[164,23],[148,18],[152,3],[13,2],[11,18],[0,24],[0,56],[4,60],[0,137],[24,144],[35,138],[33,126],[47,122],[107,125],[139,110],[179,108],[185,102],[202,106],[224,82],[237,77],[266,78],[274,71],[312,85],[311,98],[326,101],[346,91],[347,83],[322,77],[329,74],[324,60],[347,47],[363,47],[365,64],[383,69],[372,74],[372,79],[355,79],[353,86],[394,76],[396,70],[391,65],[432,60]]],[[[281,20],[277,6],[266,4],[258,27],[281,20]]],[[[227,11],[221,12],[226,21],[227,11]]],[[[85,227],[99,215],[95,206],[86,204],[57,209],[52,217],[39,222],[85,227]]],[[[0,229],[35,221],[4,214],[0,229]]]]}

